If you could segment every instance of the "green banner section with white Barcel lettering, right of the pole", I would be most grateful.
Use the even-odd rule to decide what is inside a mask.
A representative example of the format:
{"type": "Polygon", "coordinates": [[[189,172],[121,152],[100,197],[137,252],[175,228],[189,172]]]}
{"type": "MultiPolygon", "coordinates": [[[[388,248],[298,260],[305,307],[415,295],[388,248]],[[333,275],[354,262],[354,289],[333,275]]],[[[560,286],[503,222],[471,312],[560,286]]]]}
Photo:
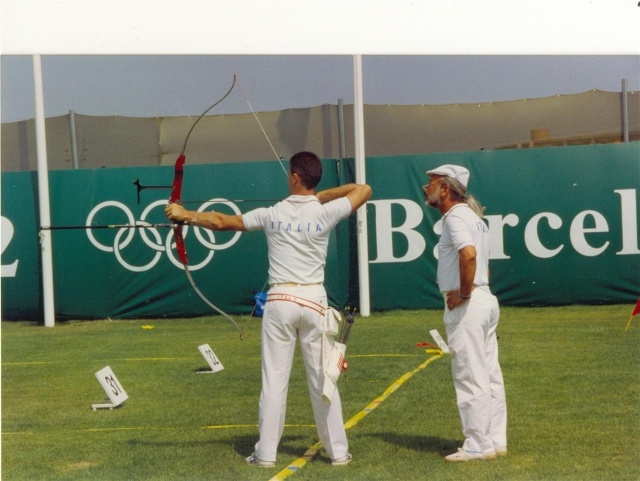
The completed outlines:
{"type": "Polygon", "coordinates": [[[435,284],[440,213],[426,171],[470,170],[486,207],[492,290],[504,305],[636,302],[640,295],[640,143],[371,159],[372,305],[442,306],[435,284]]]}

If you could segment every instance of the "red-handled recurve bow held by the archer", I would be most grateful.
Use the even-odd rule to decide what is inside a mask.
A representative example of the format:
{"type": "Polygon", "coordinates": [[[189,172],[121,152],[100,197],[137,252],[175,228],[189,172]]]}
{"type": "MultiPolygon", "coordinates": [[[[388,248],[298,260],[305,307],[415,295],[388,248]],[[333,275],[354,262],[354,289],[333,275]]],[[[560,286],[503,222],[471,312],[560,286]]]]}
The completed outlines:
{"type": "MultiPolygon", "coordinates": [[[[191,135],[191,132],[193,132],[193,129],[196,126],[196,124],[200,121],[200,119],[202,119],[202,117],[205,116],[207,112],[209,112],[212,108],[214,108],[216,105],[218,105],[220,102],[222,102],[224,99],[226,99],[229,96],[229,94],[231,93],[235,85],[236,85],[236,76],[234,75],[233,83],[231,84],[231,88],[227,91],[227,93],[224,94],[224,96],[220,98],[220,100],[217,100],[213,105],[208,107],[207,110],[202,112],[202,114],[200,114],[200,116],[196,119],[196,121],[193,123],[193,125],[189,129],[189,132],[187,133],[187,136],[184,140],[184,144],[182,145],[182,150],[180,151],[180,155],[176,159],[176,163],[173,168],[173,183],[171,185],[171,197],[169,198],[170,204],[182,203],[182,177],[184,174],[184,163],[186,160],[185,150],[187,148],[187,142],[189,141],[189,136],[191,135]]],[[[229,314],[224,312],[218,306],[213,304],[209,299],[207,299],[205,295],[202,293],[202,291],[198,288],[195,281],[193,280],[193,277],[191,276],[191,272],[189,271],[189,258],[187,256],[187,248],[185,246],[184,236],[182,234],[183,222],[174,221],[173,223],[174,223],[173,235],[176,241],[176,251],[178,253],[178,257],[180,258],[180,262],[182,262],[182,265],[184,266],[184,272],[187,275],[187,279],[189,280],[191,287],[193,287],[193,290],[196,291],[196,293],[200,296],[200,298],[209,307],[211,307],[217,313],[226,317],[229,321],[231,321],[231,323],[233,323],[234,326],[236,326],[236,328],[240,332],[240,339],[242,340],[243,333],[242,333],[242,329],[240,329],[240,326],[238,326],[238,323],[234,321],[233,318],[229,316],[229,314]]]]}

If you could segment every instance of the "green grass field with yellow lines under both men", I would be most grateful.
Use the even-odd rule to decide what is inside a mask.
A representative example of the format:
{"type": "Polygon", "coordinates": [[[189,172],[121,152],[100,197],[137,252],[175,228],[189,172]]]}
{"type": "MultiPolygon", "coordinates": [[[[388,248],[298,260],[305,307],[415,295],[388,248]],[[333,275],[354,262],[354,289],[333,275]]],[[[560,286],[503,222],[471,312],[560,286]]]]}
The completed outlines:
{"type": "Polygon", "coordinates": [[[441,311],[356,318],[340,380],[345,421],[357,421],[347,431],[354,460],[332,467],[320,450],[296,472],[286,468],[317,442],[299,356],[277,467],[244,461],[257,439],[260,319],[239,319],[244,341],[220,317],[3,322],[2,479],[637,480],[640,318],[624,331],[632,310],[503,308],[509,455],[460,464],[443,461],[462,442],[450,360],[426,364],[434,354],[416,347],[433,342],[431,329],[444,336],[441,311]],[[199,372],[205,343],[223,371],[199,372]],[[93,411],[105,398],[94,373],[107,365],[129,399],[93,411]]]}

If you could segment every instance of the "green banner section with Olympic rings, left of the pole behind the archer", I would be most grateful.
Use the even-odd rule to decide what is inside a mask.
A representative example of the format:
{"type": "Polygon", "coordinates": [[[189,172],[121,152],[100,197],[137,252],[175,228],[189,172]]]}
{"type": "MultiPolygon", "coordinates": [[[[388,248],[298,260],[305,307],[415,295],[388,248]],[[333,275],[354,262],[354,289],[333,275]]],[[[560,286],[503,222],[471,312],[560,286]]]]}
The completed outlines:
{"type": "MultiPolygon", "coordinates": [[[[337,185],[336,161],[324,162],[320,185],[337,185]]],[[[286,166],[285,166],[286,167],[286,166]]],[[[167,223],[164,207],[173,168],[52,171],[53,226],[167,223]],[[137,202],[138,180],[143,186],[137,202]]],[[[187,166],[183,199],[193,210],[240,213],[288,195],[277,162],[187,166]]],[[[2,316],[41,319],[38,193],[35,173],[2,176],[2,316]]],[[[186,227],[190,271],[198,287],[225,311],[250,313],[267,281],[262,233],[212,233],[186,227]]],[[[334,305],[346,302],[348,266],[329,245],[327,289],[334,305]],[[344,272],[343,272],[344,271],[344,272]],[[341,279],[345,279],[341,282],[341,279]]],[[[55,311],[58,319],[181,317],[211,314],[183,272],[169,228],[53,230],[55,311]]],[[[348,247],[348,244],[347,244],[348,247]]]]}

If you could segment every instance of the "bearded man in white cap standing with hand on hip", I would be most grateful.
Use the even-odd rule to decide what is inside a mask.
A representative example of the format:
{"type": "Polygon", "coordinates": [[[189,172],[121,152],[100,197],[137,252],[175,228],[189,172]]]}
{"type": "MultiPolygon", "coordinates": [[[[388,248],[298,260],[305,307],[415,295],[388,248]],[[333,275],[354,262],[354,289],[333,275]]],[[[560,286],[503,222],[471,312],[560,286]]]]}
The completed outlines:
{"type": "Polygon", "coordinates": [[[489,290],[489,229],[484,209],[467,194],[467,169],[447,164],[427,175],[426,204],[442,214],[437,282],[465,437],[445,461],[494,459],[507,454],[507,404],[496,336],[500,308],[489,290]]]}

